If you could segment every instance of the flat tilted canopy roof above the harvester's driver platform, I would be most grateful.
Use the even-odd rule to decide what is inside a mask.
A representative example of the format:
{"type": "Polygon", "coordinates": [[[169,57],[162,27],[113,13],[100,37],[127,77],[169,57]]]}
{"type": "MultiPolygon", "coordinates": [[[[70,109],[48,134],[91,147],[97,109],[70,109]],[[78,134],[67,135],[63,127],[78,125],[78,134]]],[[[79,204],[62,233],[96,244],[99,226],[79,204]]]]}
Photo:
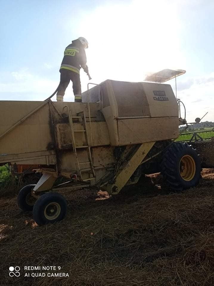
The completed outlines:
{"type": "Polygon", "coordinates": [[[152,81],[155,83],[165,83],[168,80],[178,77],[179,75],[185,74],[186,71],[183,69],[162,69],[153,74],[148,74],[145,77],[145,81],[152,81]]]}

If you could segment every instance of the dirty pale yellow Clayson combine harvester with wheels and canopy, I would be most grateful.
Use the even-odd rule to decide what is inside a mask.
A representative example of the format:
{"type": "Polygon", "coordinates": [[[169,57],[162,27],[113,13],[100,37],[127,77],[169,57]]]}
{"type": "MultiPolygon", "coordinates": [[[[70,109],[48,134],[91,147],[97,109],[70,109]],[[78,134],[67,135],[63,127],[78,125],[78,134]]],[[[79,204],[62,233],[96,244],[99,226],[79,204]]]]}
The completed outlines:
{"type": "Polygon", "coordinates": [[[161,84],[184,72],[146,78],[155,83],[106,80],[83,93],[86,103],[1,101],[0,164],[37,164],[43,174],[20,190],[18,206],[43,225],[66,215],[60,189],[116,195],[156,172],[172,189],[195,186],[200,159],[187,143],[174,142],[185,120],[171,86],[161,84]],[[68,182],[55,186],[61,176],[68,182]]]}

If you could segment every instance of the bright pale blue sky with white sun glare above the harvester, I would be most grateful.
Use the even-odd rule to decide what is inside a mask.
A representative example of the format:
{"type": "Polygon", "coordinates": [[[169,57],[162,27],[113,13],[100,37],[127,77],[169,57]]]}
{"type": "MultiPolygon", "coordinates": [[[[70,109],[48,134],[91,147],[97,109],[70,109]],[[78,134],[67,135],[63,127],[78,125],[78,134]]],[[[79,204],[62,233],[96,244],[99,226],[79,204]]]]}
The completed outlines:
{"type": "MultiPolygon", "coordinates": [[[[0,100],[49,97],[59,83],[65,47],[81,36],[89,41],[90,82],[140,82],[147,73],[184,69],[177,97],[187,121],[206,112],[203,121],[214,121],[213,0],[0,0],[0,5],[0,100]]],[[[83,70],[80,78],[85,91],[89,80],[83,70]]],[[[175,81],[167,83],[175,92],[175,81]]],[[[74,101],[72,83],[64,101],[74,101]]]]}

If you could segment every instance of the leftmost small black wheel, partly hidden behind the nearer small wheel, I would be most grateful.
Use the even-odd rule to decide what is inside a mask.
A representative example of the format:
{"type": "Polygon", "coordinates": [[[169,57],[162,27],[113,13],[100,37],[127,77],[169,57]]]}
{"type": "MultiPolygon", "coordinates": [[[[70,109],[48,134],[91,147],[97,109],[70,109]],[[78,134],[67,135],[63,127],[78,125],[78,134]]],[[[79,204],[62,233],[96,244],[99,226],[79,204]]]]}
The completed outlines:
{"type": "Polygon", "coordinates": [[[32,211],[36,198],[32,197],[31,191],[35,184],[24,186],[18,193],[17,203],[23,211],[32,211]]]}

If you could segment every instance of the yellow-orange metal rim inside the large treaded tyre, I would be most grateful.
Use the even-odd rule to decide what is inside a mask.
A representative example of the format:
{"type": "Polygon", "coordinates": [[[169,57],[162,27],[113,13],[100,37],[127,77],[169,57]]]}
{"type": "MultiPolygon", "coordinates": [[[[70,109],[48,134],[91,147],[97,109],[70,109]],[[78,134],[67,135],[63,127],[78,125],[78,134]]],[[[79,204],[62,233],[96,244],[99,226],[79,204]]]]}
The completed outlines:
{"type": "Polygon", "coordinates": [[[183,156],[180,160],[179,171],[184,181],[191,181],[196,174],[196,163],[193,157],[190,155],[183,156]]]}

